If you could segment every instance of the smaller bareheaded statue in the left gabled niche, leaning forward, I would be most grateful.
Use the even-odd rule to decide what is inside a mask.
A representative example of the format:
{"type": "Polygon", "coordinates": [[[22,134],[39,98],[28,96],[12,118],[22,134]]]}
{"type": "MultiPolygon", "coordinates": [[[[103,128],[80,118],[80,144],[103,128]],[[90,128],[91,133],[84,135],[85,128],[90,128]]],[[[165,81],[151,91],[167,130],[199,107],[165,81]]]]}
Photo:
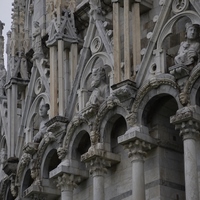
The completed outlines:
{"type": "Polygon", "coordinates": [[[40,106],[39,115],[42,118],[42,121],[40,122],[39,131],[33,138],[33,142],[35,143],[39,143],[42,140],[44,134],[46,133],[47,127],[45,126],[45,123],[49,121],[49,115],[48,115],[49,108],[50,108],[49,104],[43,104],[40,106]]]}

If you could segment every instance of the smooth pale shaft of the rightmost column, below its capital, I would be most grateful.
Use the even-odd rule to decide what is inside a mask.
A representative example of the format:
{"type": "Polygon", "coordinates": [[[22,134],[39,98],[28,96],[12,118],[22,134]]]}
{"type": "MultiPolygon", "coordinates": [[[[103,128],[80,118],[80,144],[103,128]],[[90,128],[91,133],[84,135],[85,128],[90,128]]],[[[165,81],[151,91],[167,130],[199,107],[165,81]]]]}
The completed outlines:
{"type": "Polygon", "coordinates": [[[183,145],[186,200],[199,200],[196,141],[190,138],[185,139],[183,145]]]}

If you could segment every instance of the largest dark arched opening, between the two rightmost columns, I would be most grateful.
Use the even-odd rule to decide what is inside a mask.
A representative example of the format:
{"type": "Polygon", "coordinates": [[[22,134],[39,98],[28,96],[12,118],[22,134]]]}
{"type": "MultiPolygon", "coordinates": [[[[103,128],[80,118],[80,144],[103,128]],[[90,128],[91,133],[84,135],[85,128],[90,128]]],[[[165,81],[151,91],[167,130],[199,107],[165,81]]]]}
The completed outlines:
{"type": "Polygon", "coordinates": [[[176,114],[177,109],[174,97],[165,94],[153,97],[144,108],[143,125],[158,141],[158,147],[152,149],[145,160],[145,182],[147,190],[159,192],[160,195],[165,195],[163,191],[169,190],[174,197],[184,199],[183,142],[179,131],[170,124],[170,117],[176,114]]]}

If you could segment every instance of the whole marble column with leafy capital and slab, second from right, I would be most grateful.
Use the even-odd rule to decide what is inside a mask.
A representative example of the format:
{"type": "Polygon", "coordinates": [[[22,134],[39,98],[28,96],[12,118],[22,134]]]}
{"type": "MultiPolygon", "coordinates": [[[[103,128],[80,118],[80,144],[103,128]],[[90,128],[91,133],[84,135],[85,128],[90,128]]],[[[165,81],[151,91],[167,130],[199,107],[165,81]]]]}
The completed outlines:
{"type": "Polygon", "coordinates": [[[132,163],[132,200],[145,200],[144,158],[146,152],[156,145],[145,127],[132,127],[118,137],[125,146],[132,163]],[[144,132],[147,132],[144,134],[144,132]]]}

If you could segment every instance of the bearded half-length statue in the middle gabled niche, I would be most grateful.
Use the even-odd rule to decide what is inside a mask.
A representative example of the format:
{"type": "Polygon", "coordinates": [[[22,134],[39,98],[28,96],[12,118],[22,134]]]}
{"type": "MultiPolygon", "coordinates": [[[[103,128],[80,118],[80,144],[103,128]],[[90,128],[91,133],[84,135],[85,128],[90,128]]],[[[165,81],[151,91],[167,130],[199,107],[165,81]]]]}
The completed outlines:
{"type": "Polygon", "coordinates": [[[94,68],[92,70],[92,83],[91,86],[94,88],[89,101],[86,106],[89,105],[100,105],[109,96],[109,86],[106,83],[106,72],[103,67],[94,68]]]}

